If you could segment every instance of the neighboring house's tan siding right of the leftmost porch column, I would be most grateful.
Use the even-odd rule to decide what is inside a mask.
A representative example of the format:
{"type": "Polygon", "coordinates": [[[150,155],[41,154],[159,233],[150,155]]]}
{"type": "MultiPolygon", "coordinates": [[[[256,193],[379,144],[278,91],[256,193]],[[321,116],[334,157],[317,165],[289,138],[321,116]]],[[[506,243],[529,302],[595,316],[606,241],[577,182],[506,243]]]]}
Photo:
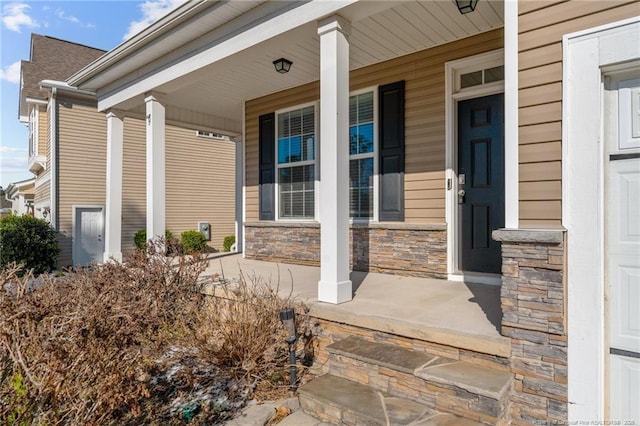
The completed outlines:
{"type": "MultiPolygon", "coordinates": [[[[146,228],[146,129],[144,121],[126,118],[122,177],[122,250],[134,248],[136,232],[146,228]]],[[[208,245],[222,250],[224,237],[235,234],[235,145],[196,136],[196,130],[167,126],[166,229],[177,238],[211,224],[208,245]]]]}

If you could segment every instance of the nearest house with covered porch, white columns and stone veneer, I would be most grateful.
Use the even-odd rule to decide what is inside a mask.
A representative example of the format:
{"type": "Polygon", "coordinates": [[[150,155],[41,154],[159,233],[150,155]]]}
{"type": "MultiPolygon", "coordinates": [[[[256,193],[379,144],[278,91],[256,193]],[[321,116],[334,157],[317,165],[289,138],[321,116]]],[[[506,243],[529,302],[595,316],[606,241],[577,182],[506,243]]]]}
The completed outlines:
{"type": "Polygon", "coordinates": [[[145,111],[153,235],[176,184],[168,123],[204,120],[240,136],[246,257],[320,265],[330,303],[351,300],[350,265],[501,283],[510,353],[483,361],[513,373],[497,417],[640,417],[639,12],[186,3],[67,80],[112,129],[106,251],[121,251],[132,145],[109,112],[145,111]]]}

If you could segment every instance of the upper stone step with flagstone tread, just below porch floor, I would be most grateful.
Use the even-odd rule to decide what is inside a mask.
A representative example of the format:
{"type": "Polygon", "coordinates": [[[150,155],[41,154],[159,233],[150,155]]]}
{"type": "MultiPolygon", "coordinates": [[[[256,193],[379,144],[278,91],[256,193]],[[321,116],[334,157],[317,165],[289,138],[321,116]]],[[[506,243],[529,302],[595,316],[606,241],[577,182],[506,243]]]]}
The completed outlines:
{"type": "Polygon", "coordinates": [[[489,424],[503,419],[506,371],[349,336],[327,346],[329,373],[431,409],[489,424]]]}

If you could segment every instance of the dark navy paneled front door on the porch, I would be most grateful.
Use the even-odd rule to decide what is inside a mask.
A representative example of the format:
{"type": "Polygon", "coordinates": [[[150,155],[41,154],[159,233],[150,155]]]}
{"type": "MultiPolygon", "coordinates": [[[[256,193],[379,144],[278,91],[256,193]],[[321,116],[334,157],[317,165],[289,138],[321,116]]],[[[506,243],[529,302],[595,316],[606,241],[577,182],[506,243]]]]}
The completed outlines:
{"type": "Polygon", "coordinates": [[[504,227],[504,95],[458,103],[459,268],[501,272],[504,227]]]}

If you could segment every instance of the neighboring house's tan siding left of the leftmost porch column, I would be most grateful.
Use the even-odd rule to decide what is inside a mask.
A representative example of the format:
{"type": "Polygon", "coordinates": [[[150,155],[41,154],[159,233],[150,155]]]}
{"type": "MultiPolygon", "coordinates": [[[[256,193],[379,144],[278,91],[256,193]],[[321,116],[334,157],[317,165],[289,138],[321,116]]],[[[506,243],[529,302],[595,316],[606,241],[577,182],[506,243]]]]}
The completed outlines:
{"type": "Polygon", "coordinates": [[[104,206],[107,122],[94,106],[58,102],[59,266],[72,264],[73,206],[104,206]]]}

